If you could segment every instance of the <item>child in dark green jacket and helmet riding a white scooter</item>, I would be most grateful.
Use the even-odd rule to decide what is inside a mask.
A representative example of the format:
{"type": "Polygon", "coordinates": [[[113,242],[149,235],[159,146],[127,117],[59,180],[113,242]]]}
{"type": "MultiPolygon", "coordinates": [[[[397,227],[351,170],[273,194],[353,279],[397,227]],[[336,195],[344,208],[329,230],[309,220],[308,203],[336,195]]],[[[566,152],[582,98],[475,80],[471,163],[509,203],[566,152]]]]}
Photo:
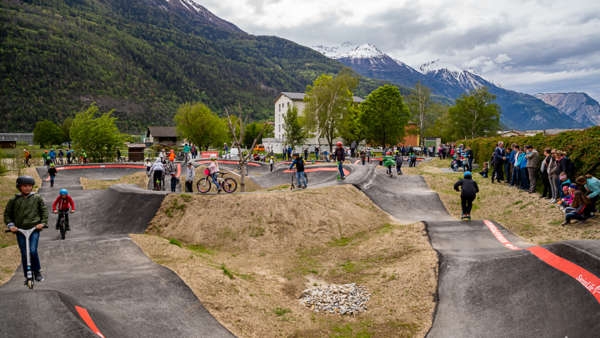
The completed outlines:
{"type": "Polygon", "coordinates": [[[33,271],[35,280],[41,282],[44,280],[44,277],[41,273],[37,247],[40,239],[40,231],[48,223],[48,208],[46,207],[46,203],[44,203],[44,199],[32,191],[34,185],[35,180],[31,176],[19,176],[17,178],[17,189],[19,189],[20,193],[16,194],[6,204],[6,209],[4,209],[4,223],[11,232],[17,235],[25,279],[27,279],[27,271],[25,269],[27,266],[25,241],[27,239],[17,229],[37,229],[29,237],[29,253],[31,270],[33,271]]]}

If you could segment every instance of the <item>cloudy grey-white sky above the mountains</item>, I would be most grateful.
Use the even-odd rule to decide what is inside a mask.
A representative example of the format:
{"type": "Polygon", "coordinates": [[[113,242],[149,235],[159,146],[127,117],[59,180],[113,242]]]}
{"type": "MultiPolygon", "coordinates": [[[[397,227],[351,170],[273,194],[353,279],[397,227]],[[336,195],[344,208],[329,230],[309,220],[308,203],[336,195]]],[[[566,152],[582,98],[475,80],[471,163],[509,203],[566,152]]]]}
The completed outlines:
{"type": "Polygon", "coordinates": [[[438,60],[507,89],[600,101],[600,1],[195,1],[254,35],[371,43],[417,69],[438,60]]]}

